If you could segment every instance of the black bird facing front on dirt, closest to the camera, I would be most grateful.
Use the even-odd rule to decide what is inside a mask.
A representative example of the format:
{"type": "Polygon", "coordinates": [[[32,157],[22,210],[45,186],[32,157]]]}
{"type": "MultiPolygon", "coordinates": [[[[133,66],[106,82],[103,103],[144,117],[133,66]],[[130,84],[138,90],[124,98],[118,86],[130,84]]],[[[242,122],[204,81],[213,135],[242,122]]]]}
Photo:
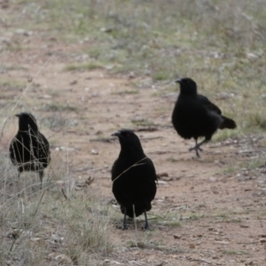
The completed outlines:
{"type": "Polygon", "coordinates": [[[124,214],[122,229],[128,229],[129,217],[145,214],[144,229],[149,229],[146,212],[152,208],[156,194],[156,171],[153,161],[146,157],[137,135],[122,129],[112,134],[119,138],[121,152],[112,168],[113,195],[124,214]]]}

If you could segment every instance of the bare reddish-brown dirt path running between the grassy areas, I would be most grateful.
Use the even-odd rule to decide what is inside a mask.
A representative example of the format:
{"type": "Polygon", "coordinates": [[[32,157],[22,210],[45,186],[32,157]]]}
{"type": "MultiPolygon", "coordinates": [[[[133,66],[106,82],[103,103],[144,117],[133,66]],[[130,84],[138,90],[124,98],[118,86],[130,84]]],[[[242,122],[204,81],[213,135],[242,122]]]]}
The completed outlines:
{"type": "MultiPolygon", "coordinates": [[[[12,35],[11,42],[27,43],[27,49],[1,53],[1,79],[25,86],[3,86],[1,108],[12,110],[21,97],[16,111],[35,114],[51,141],[51,156],[67,150],[73,177],[94,177],[88,192],[113,200],[110,169],[120,145],[111,134],[121,128],[135,129],[157,172],[168,174],[160,178],[148,214],[152,231],[141,231],[144,217],[137,218],[137,235],[133,223],[128,231],[113,224],[115,248],[107,256],[99,254],[98,265],[266,265],[265,168],[230,171],[255,156],[256,139],[210,142],[198,159],[188,152],[193,141],[177,136],[171,125],[177,92],[164,93],[148,76],[113,75],[105,69],[63,71],[82,61],[84,44],[59,43],[35,33],[12,35]],[[52,119],[58,124],[49,129],[45,122],[52,119]],[[134,120],[152,123],[137,126],[134,120]],[[176,222],[163,223],[168,215],[176,215],[176,222]]],[[[5,153],[17,130],[12,112],[1,139],[5,153]]]]}

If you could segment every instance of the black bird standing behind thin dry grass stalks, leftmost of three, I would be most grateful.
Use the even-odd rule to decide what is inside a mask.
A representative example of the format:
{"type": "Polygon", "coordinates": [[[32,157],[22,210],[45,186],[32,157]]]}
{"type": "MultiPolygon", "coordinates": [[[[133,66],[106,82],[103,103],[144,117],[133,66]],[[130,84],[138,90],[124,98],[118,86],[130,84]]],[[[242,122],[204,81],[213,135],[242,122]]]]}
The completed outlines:
{"type": "Polygon", "coordinates": [[[19,117],[19,131],[12,138],[10,158],[18,167],[19,176],[23,171],[38,172],[42,189],[43,170],[51,160],[49,142],[38,130],[35,117],[31,113],[18,113],[15,116],[19,117]]]}

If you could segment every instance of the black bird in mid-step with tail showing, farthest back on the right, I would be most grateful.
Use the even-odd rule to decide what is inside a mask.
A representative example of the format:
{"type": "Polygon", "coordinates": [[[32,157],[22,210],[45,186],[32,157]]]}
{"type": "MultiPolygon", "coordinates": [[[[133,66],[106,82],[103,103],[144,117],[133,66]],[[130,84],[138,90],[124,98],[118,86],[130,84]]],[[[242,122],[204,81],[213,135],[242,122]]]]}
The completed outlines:
{"type": "Polygon", "coordinates": [[[200,146],[211,139],[217,129],[235,129],[236,122],[222,115],[219,107],[211,103],[207,97],[197,93],[197,84],[191,78],[176,80],[180,84],[180,94],[172,113],[172,123],[181,137],[193,137],[195,150],[200,157],[200,146]],[[205,137],[198,144],[198,138],[205,137]]]}

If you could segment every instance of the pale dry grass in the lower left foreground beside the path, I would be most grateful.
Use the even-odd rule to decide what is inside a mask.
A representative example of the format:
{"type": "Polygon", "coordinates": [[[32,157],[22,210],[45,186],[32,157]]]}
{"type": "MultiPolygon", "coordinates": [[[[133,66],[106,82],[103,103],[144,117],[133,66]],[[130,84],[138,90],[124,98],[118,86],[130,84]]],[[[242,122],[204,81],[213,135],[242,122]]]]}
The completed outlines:
{"type": "Polygon", "coordinates": [[[61,158],[53,156],[41,192],[37,174],[25,173],[18,179],[3,154],[1,161],[0,253],[5,262],[37,265],[49,262],[49,254],[57,252],[83,265],[96,252],[112,251],[107,233],[110,207],[90,187],[75,192],[74,179],[61,158]]]}

